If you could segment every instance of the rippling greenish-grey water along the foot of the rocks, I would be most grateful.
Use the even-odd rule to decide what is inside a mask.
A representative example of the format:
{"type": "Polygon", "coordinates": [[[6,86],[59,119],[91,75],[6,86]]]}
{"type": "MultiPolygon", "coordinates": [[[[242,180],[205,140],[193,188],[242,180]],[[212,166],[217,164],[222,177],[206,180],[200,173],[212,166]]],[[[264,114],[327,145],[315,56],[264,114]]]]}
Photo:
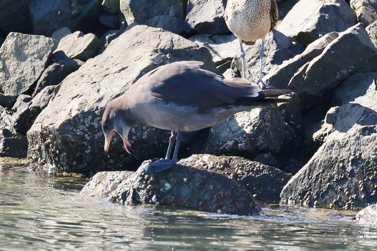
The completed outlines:
{"type": "Polygon", "coordinates": [[[264,205],[236,216],[112,204],[80,196],[87,180],[0,160],[0,250],[377,250],[355,211],[264,205]]]}

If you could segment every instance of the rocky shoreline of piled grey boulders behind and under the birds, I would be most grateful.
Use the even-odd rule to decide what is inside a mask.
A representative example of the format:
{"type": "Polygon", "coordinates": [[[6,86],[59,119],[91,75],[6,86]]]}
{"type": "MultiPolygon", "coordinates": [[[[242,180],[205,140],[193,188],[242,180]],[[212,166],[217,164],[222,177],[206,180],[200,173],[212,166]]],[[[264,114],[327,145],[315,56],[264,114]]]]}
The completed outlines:
{"type": "MultiPolygon", "coordinates": [[[[226,2],[0,0],[0,156],[85,177],[116,172],[97,174],[87,186],[124,183],[116,195],[115,188],[111,196],[89,193],[122,203],[240,214],[259,212],[254,199],[343,209],[375,204],[377,1],[278,0],[263,76],[292,90],[291,102],[187,133],[184,159],[162,180],[141,164],[164,156],[168,131],[135,126],[132,155],[118,136],[110,158],[104,154],[104,108],[150,70],[197,60],[226,78],[240,76],[238,41],[223,18],[226,2]],[[136,179],[134,171],[143,175],[136,179]],[[181,183],[203,175],[190,186],[181,183]],[[210,182],[218,175],[220,188],[210,182]],[[198,197],[188,199],[189,189],[198,197]],[[161,192],[168,190],[174,192],[161,192]]],[[[259,74],[260,43],[245,47],[248,79],[259,74]]]]}

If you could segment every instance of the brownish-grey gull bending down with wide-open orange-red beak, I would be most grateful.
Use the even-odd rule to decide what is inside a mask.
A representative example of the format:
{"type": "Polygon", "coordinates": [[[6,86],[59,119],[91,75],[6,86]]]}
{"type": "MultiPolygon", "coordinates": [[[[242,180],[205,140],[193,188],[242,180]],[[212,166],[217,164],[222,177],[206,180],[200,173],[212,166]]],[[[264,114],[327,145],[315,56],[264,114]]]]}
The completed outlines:
{"type": "MultiPolygon", "coordinates": [[[[102,117],[105,151],[113,132],[118,132],[129,152],[128,132],[137,123],[171,130],[171,141],[174,141],[174,134],[179,137],[180,131],[196,131],[240,111],[284,102],[276,97],[291,92],[261,91],[255,82],[242,78],[222,79],[200,69],[202,64],[182,61],[160,66],[113,99],[102,117]]],[[[177,160],[178,146],[177,138],[173,163],[177,160]]],[[[166,158],[170,157],[170,151],[166,158]]]]}

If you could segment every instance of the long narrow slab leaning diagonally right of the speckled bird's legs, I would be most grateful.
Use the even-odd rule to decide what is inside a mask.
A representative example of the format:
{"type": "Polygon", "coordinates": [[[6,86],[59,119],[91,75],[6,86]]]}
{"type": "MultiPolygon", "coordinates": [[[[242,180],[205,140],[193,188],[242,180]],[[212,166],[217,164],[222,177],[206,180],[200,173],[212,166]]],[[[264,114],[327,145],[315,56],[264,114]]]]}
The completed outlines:
{"type": "Polygon", "coordinates": [[[265,82],[278,89],[287,88],[298,69],[319,56],[325,47],[337,37],[339,37],[339,33],[331,32],[317,39],[309,44],[301,54],[283,62],[276,70],[268,72],[264,77],[265,82]]]}

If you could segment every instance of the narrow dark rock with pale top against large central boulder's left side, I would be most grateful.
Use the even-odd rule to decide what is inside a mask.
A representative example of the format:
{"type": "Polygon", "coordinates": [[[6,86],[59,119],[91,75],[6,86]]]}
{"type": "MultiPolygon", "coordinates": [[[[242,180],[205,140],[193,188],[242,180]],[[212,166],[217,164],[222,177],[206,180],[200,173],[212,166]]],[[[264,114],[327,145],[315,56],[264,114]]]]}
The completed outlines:
{"type": "Polygon", "coordinates": [[[15,106],[17,110],[12,115],[12,119],[14,121],[14,128],[18,133],[22,135],[27,134],[38,114],[41,113],[41,111],[47,106],[50,99],[54,96],[55,87],[56,86],[54,85],[45,87],[37,95],[35,95],[31,101],[24,101],[22,105],[18,105],[16,101],[15,106]]]}

